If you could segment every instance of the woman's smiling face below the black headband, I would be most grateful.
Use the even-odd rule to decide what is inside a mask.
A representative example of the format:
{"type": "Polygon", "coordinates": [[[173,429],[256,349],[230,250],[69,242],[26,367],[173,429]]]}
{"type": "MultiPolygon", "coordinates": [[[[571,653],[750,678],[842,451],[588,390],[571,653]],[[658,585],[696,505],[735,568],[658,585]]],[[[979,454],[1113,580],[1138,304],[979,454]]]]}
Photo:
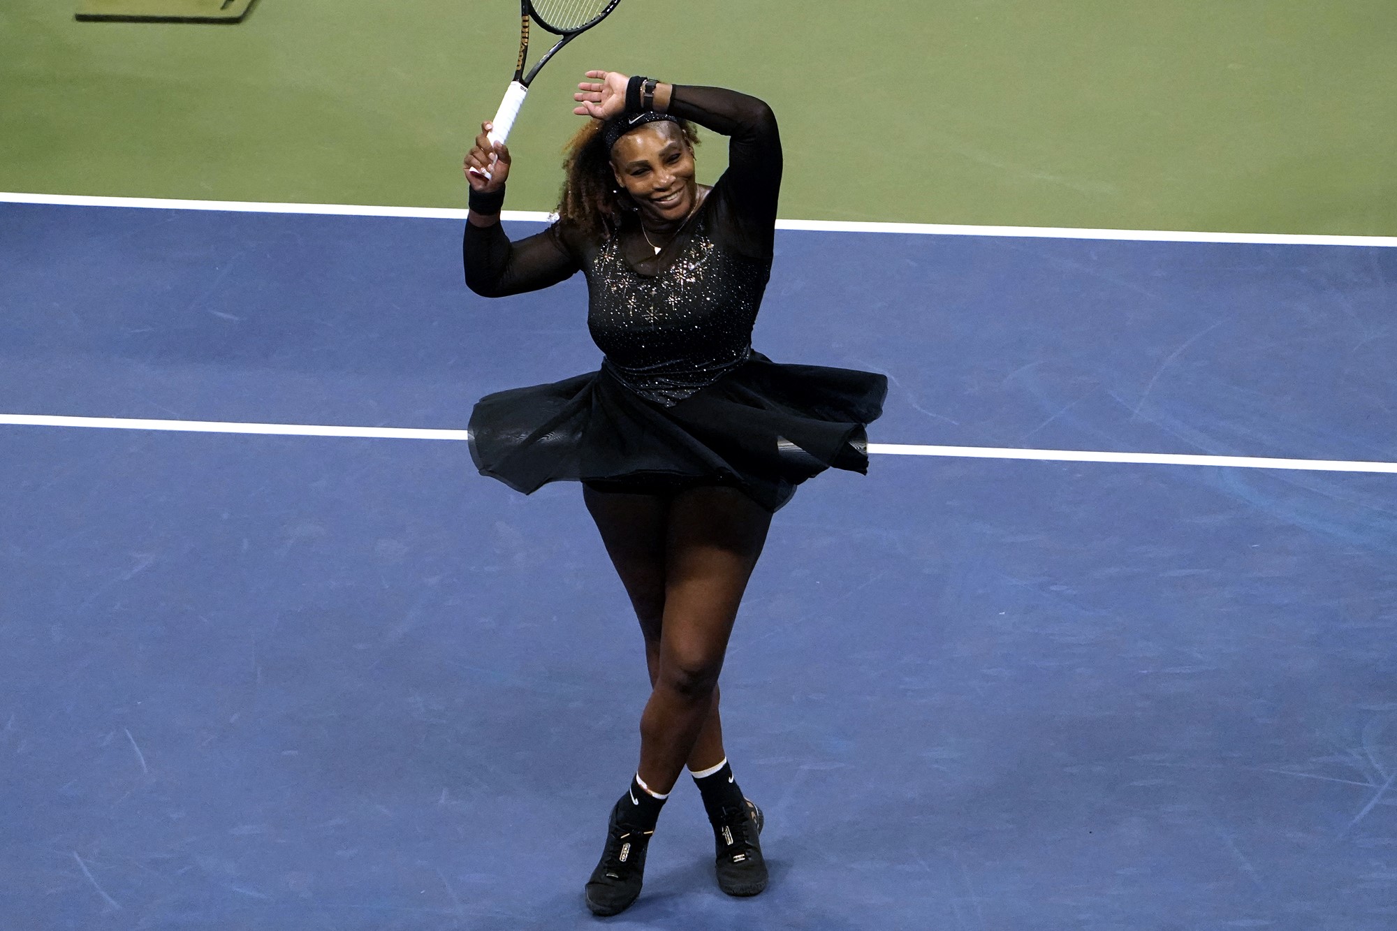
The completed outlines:
{"type": "Polygon", "coordinates": [[[678,224],[693,212],[694,151],[678,123],[645,123],[622,136],[612,147],[612,172],[651,226],[678,224]]]}

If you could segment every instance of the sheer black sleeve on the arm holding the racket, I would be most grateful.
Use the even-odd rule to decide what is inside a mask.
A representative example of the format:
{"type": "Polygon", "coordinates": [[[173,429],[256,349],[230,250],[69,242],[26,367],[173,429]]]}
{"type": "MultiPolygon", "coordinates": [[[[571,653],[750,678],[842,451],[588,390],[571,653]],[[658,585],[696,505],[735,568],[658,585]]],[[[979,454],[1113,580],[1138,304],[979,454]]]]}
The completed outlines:
{"type": "Polygon", "coordinates": [[[465,285],[482,298],[504,298],[564,281],[580,268],[567,238],[553,224],[541,233],[510,242],[500,224],[465,224],[461,242],[465,285]]]}

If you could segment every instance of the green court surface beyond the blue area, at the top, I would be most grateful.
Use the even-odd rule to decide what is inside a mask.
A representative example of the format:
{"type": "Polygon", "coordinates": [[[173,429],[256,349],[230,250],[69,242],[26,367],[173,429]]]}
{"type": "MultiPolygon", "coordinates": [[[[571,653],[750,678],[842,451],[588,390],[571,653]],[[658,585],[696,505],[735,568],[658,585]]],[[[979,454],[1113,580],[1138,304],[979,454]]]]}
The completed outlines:
{"type": "MultiPolygon", "coordinates": [[[[458,207],[518,31],[511,0],[74,6],[0,6],[0,190],[458,207]]],[[[552,207],[592,66],[767,98],[784,217],[1397,235],[1394,0],[624,0],[535,82],[511,208],[552,207]]]]}

